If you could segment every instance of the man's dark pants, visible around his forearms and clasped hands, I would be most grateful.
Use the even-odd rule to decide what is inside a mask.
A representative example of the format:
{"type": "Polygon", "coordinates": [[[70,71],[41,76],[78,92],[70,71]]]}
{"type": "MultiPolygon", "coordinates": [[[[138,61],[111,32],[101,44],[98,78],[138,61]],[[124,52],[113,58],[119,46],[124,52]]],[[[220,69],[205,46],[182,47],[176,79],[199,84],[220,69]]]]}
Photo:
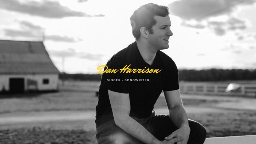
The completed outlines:
{"type": "MultiPolygon", "coordinates": [[[[149,118],[134,119],[161,141],[177,130],[168,115],[155,115],[152,113],[149,118]]],[[[188,144],[203,144],[206,138],[205,128],[200,123],[190,119],[188,123],[191,129],[188,144]]],[[[96,131],[98,144],[143,144],[115,125],[114,120],[97,124],[96,131]]]]}

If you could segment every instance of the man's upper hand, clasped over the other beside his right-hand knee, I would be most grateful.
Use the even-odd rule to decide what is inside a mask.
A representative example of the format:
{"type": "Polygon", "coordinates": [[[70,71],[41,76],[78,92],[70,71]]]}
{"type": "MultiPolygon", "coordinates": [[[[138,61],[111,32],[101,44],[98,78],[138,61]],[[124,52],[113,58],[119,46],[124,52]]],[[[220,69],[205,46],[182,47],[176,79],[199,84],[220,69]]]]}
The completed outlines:
{"type": "Polygon", "coordinates": [[[183,125],[179,129],[177,129],[175,132],[170,134],[168,137],[164,138],[167,141],[171,141],[170,144],[174,144],[177,142],[177,144],[187,144],[188,138],[189,138],[190,128],[188,125],[183,125]],[[181,140],[182,139],[182,140],[181,140]],[[173,143],[173,141],[175,141],[173,143]]]}

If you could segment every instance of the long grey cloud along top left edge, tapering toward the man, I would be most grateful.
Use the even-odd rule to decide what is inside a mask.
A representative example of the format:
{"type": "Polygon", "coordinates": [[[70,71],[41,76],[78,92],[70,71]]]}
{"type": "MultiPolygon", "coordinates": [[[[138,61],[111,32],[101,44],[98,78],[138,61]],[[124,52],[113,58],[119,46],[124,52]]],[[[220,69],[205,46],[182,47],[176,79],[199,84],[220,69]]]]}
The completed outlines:
{"type": "Polygon", "coordinates": [[[58,1],[43,0],[26,1],[21,3],[18,0],[0,0],[0,8],[22,12],[29,15],[36,15],[47,18],[64,18],[64,17],[103,17],[104,15],[89,15],[85,12],[70,10],[70,8],[61,6],[58,1]]]}

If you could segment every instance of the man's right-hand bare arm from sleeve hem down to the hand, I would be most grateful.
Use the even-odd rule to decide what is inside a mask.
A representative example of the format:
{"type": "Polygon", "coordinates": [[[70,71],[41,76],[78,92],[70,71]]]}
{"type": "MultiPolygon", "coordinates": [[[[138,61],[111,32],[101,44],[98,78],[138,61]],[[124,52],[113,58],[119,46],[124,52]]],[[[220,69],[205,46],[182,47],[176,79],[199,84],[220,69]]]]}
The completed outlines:
{"type": "Polygon", "coordinates": [[[190,128],[188,125],[188,115],[183,107],[179,89],[173,91],[164,91],[164,96],[169,109],[170,119],[174,125],[178,127],[178,130],[165,139],[171,140],[174,137],[183,137],[184,140],[178,142],[177,144],[186,144],[188,142],[190,128]]]}

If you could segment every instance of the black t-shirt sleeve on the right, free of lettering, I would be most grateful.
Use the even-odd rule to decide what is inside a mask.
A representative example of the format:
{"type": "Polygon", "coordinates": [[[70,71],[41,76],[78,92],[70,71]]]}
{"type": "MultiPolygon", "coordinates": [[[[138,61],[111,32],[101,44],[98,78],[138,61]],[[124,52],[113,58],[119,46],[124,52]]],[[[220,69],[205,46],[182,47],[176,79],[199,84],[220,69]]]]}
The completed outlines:
{"type": "Polygon", "coordinates": [[[167,74],[164,84],[164,91],[178,90],[179,89],[179,73],[178,68],[173,60],[167,63],[167,74]]]}

